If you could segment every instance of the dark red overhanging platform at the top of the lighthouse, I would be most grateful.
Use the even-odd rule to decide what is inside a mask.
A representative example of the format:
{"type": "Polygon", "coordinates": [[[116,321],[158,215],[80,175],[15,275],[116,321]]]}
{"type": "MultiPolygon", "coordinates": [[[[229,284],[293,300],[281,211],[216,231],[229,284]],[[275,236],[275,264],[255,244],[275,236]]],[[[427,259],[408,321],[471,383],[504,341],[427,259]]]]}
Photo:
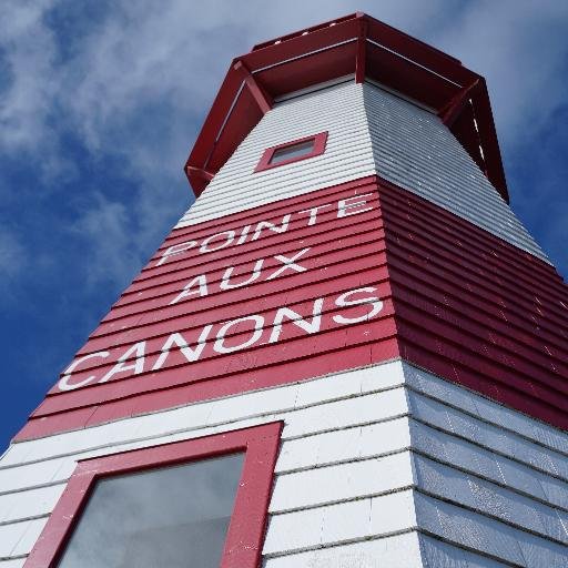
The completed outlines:
{"type": "Polygon", "coordinates": [[[361,12],[258,43],[232,61],[185,163],[195,194],[275,101],[342,78],[376,81],[439,115],[508,202],[484,78],[361,12]]]}

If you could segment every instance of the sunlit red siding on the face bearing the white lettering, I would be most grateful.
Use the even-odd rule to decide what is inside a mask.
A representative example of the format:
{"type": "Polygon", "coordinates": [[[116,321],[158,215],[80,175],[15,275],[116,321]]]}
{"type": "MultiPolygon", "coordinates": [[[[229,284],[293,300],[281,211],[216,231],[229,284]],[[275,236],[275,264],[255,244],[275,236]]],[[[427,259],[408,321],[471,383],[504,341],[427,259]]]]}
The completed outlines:
{"type": "MultiPolygon", "coordinates": [[[[211,241],[221,243],[222,239],[211,241]]],[[[384,250],[378,194],[373,179],[173,231],[79,351],[77,358],[109,353],[78,365],[70,383],[78,384],[90,376],[95,379],[74,390],[62,392],[55,385],[18,437],[80,428],[396,357],[396,329],[384,250]],[[363,194],[366,196],[358,197],[363,194]],[[361,212],[355,207],[349,210],[349,213],[357,211],[355,214],[338,216],[341,200],[353,204],[362,199],[365,204],[358,206],[361,212]],[[321,209],[316,221],[310,225],[311,213],[305,210],[322,205],[328,206],[321,209]],[[256,223],[270,221],[282,226],[285,214],[291,214],[286,232],[263,229],[261,237],[252,240],[256,223]],[[245,244],[203,254],[193,246],[161,263],[164,252],[174,245],[189,240],[202,243],[209,235],[226,231],[235,231],[236,241],[245,225],[253,225],[245,244]],[[266,280],[266,275],[283,266],[278,255],[290,258],[305,248],[308,251],[297,261],[304,272],[288,270],[280,277],[266,280]],[[257,280],[246,287],[220,290],[229,266],[235,267],[237,282],[251,276],[258,258],[265,261],[257,280]],[[172,304],[184,284],[201,274],[206,274],[209,294],[172,304]],[[368,311],[364,306],[339,308],[334,304],[334,298],[342,293],[362,287],[376,288],[371,295],[381,298],[383,308],[367,321],[338,324],[334,316],[357,317],[368,311]],[[287,306],[310,322],[316,298],[324,298],[318,333],[308,334],[286,321],[278,341],[268,343],[272,318],[280,307],[287,306]],[[216,353],[213,349],[216,331],[225,322],[248,314],[265,317],[261,338],[243,351],[216,353]],[[179,349],[172,349],[160,369],[151,369],[170,334],[179,332],[194,346],[206,325],[213,327],[199,361],[187,363],[179,349]],[[143,372],[126,371],[98,383],[129,346],[141,341],[146,342],[143,372]]],[[[226,343],[244,343],[252,333],[253,324],[244,322],[227,334],[226,343]]],[[[125,364],[133,362],[132,356],[125,364]]]]}

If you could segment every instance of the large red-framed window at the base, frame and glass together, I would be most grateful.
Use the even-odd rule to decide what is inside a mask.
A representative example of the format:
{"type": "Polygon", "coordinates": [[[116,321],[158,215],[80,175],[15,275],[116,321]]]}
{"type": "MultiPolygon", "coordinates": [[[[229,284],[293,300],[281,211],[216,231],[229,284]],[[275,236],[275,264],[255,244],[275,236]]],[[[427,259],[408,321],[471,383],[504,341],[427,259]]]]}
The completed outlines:
{"type": "Polygon", "coordinates": [[[256,567],[281,423],[80,462],[27,567],[256,567]]]}

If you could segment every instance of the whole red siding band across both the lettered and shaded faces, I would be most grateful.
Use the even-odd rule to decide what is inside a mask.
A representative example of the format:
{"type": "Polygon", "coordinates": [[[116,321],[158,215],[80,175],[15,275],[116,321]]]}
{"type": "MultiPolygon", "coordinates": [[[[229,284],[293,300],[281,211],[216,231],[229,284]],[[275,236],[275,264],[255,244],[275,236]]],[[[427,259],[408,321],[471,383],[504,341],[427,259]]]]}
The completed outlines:
{"type": "MultiPolygon", "coordinates": [[[[222,236],[209,240],[214,246],[222,242],[222,236]]],[[[252,334],[251,321],[242,322],[227,333],[226,345],[245,343],[252,334]]],[[[412,193],[364,179],[174,230],[79,351],[75,361],[88,358],[70,383],[94,378],[73,390],[55,385],[18,439],[398,356],[566,428],[567,338],[567,287],[552,266],[412,193]],[[365,203],[338,216],[341,200],[365,203]],[[323,205],[310,224],[306,210],[323,205]],[[285,232],[263,229],[252,240],[257,223],[282,226],[287,214],[285,232]],[[246,242],[235,245],[247,225],[246,242]],[[200,252],[207,236],[231,236],[231,231],[232,245],[200,252]],[[196,244],[163,261],[189,241],[196,244]],[[291,258],[304,250],[297,261],[302,272],[287,270],[266,280],[283,267],[278,255],[291,258]],[[251,276],[258,258],[264,262],[254,282],[220,290],[229,266],[239,282],[251,276]],[[202,274],[207,295],[172,303],[185,283],[202,274]],[[362,287],[375,288],[383,308],[366,321],[339,325],[334,316],[355,317],[365,307],[338,307],[334,298],[362,287]],[[278,341],[268,342],[278,308],[287,306],[311,322],[316,298],[324,298],[317,333],[286,321],[278,341]],[[224,323],[250,314],[264,318],[258,341],[233,353],[214,351],[224,323]],[[170,334],[181,333],[195,347],[207,325],[211,333],[197,361],[189,363],[172,349],[152,369],[170,334]],[[99,383],[120,355],[142,341],[140,372],[119,372],[99,383]],[[100,352],[108,355],[90,357],[100,352]]],[[[133,363],[131,354],[124,364],[133,363]]]]}

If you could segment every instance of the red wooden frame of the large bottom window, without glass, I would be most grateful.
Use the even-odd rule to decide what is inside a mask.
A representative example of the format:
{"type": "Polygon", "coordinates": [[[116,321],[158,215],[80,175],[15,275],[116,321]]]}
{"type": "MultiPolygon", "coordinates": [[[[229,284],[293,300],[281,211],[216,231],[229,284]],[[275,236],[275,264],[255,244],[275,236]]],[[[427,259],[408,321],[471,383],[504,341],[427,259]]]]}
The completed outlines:
{"type": "Polygon", "coordinates": [[[243,473],[220,568],[256,568],[282,426],[282,422],[270,423],[79,462],[24,567],[57,566],[99,479],[243,452],[243,473]]]}

